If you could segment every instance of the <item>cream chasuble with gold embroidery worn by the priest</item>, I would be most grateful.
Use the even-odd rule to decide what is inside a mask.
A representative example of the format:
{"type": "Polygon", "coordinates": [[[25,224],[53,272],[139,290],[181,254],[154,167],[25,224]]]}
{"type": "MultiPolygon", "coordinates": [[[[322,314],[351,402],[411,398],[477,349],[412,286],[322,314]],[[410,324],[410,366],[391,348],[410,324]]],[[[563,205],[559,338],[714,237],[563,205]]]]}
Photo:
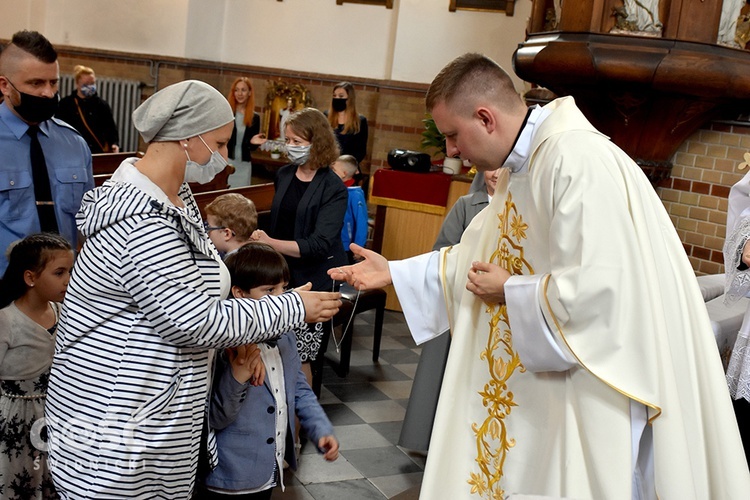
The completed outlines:
{"type": "Polygon", "coordinates": [[[440,254],[453,339],[421,498],[638,498],[631,401],[648,409],[660,499],[750,498],[718,350],[672,222],[571,98],[546,108],[528,168],[440,254]],[[484,304],[465,289],[472,261],[540,276],[536,302],[484,304]],[[514,335],[528,332],[511,332],[509,318],[539,311],[572,368],[524,366],[514,335]]]}

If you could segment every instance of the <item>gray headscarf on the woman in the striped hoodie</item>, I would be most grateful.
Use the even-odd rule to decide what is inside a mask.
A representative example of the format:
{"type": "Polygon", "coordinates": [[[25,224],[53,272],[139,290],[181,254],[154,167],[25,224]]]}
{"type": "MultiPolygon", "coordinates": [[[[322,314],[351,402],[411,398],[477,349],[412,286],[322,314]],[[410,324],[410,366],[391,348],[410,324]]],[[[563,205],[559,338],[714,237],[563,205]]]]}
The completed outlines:
{"type": "Polygon", "coordinates": [[[147,143],[195,137],[233,120],[226,98],[198,80],[165,87],[133,111],[133,125],[147,143]]]}

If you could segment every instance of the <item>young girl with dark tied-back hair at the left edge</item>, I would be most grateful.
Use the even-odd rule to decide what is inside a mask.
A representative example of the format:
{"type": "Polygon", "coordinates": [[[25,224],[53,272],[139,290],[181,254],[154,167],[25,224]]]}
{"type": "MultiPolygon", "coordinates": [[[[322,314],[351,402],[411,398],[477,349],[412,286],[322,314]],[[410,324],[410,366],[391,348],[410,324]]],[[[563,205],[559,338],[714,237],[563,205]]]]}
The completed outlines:
{"type": "Polygon", "coordinates": [[[0,496],[57,498],[46,460],[42,417],[54,332],[73,267],[58,234],[11,246],[0,283],[0,496]]]}

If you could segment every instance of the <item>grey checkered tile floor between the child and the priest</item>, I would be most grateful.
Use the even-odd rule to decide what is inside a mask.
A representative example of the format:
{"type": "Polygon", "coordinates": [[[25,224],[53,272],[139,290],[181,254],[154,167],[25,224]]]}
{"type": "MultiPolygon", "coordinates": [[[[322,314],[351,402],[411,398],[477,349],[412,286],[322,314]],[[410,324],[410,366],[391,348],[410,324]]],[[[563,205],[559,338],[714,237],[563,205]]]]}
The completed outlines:
{"type": "MultiPolygon", "coordinates": [[[[374,312],[354,323],[351,369],[339,378],[327,363],[320,403],[335,427],[339,458],[326,462],[306,444],[296,472],[287,471],[286,491],[275,500],[380,500],[417,498],[425,457],[397,446],[411,383],[419,360],[403,314],[386,311],[380,360],[372,361],[374,312]]],[[[341,335],[337,328],[336,335],[341,335]]],[[[329,343],[328,357],[335,358],[329,343]]]]}

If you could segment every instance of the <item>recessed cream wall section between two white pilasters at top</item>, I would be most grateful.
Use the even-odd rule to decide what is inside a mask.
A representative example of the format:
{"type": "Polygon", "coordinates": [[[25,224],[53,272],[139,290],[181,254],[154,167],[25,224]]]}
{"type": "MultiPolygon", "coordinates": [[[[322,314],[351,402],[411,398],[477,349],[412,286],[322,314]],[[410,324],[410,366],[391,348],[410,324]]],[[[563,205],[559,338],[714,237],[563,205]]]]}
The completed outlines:
{"type": "Polygon", "coordinates": [[[227,5],[227,62],[389,78],[388,39],[397,9],[335,0],[227,0],[227,5]]]}

